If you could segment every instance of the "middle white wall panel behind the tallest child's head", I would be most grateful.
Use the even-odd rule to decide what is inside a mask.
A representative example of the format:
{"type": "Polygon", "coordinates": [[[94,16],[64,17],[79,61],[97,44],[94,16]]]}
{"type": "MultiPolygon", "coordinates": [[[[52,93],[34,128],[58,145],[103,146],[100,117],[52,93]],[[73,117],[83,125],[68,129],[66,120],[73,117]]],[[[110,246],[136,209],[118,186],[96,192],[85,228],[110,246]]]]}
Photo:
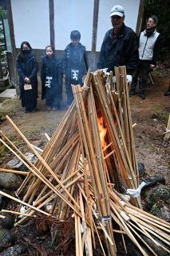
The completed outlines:
{"type": "Polygon", "coordinates": [[[92,48],[93,0],[55,0],[55,43],[57,50],[64,50],[70,42],[70,32],[81,32],[81,43],[86,50],[92,48]]]}

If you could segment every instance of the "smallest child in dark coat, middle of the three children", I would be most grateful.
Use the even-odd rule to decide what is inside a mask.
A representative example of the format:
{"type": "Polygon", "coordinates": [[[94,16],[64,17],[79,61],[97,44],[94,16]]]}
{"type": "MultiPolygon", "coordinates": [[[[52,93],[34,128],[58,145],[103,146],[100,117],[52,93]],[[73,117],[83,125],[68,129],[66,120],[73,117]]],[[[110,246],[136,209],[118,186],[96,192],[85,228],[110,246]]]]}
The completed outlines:
{"type": "Polygon", "coordinates": [[[45,98],[47,110],[59,110],[61,107],[61,61],[54,55],[53,46],[45,47],[42,58],[42,99],[45,98]]]}

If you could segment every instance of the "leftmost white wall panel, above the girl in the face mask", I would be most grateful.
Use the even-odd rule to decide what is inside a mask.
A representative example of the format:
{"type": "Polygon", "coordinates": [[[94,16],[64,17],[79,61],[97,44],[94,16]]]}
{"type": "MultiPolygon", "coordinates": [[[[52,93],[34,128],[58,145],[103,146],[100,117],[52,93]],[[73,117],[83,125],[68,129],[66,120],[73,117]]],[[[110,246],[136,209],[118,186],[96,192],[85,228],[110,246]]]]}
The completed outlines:
{"type": "Polygon", "coordinates": [[[50,44],[49,0],[11,0],[11,7],[16,47],[28,41],[34,49],[45,49],[50,44]]]}

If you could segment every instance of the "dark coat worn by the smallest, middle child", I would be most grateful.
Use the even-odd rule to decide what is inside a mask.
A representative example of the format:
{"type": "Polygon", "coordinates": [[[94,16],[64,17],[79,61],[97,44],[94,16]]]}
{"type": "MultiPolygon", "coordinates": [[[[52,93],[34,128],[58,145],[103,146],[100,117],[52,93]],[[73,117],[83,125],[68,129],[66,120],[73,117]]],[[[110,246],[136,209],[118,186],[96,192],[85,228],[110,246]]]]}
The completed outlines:
{"type": "Polygon", "coordinates": [[[50,89],[53,93],[61,94],[61,60],[55,55],[50,59],[46,55],[42,57],[42,99],[45,98],[45,90],[47,90],[45,88],[46,77],[52,77],[50,89]]]}

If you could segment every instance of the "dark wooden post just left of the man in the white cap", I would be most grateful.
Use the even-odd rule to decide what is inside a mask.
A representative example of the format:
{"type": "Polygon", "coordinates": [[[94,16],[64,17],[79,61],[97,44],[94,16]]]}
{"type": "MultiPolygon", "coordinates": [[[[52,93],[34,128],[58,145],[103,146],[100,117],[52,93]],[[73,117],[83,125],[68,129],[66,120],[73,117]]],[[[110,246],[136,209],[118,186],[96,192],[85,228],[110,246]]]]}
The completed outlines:
{"type": "Polygon", "coordinates": [[[94,0],[94,9],[93,9],[93,34],[92,34],[92,53],[95,53],[95,52],[96,52],[96,48],[97,48],[98,12],[99,12],[99,0],[94,0]]]}

